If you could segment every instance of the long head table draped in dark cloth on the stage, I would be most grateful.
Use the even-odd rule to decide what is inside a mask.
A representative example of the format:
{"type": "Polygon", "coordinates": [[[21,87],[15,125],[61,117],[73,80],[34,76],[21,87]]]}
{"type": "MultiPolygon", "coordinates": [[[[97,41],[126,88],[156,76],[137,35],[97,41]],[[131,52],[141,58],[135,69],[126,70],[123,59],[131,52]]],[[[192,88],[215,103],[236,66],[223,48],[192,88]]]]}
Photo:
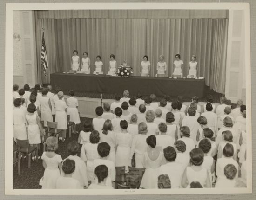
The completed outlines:
{"type": "Polygon", "coordinates": [[[136,95],[141,91],[144,95],[154,93],[156,96],[205,97],[205,79],[166,78],[166,77],[111,77],[107,75],[53,73],[53,88],[77,92],[122,93],[128,90],[136,95]]]}

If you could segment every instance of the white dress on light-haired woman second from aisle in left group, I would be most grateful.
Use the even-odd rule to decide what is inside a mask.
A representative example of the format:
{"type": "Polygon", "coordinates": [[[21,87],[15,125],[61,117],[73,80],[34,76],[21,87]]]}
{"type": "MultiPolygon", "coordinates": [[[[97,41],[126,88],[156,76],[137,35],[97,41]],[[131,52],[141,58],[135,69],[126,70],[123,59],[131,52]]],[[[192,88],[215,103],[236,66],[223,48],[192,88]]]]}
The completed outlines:
{"type": "Polygon", "coordinates": [[[67,113],[65,109],[67,108],[66,102],[62,100],[58,100],[55,102],[55,122],[58,122],[57,128],[58,129],[67,129],[67,113]]]}

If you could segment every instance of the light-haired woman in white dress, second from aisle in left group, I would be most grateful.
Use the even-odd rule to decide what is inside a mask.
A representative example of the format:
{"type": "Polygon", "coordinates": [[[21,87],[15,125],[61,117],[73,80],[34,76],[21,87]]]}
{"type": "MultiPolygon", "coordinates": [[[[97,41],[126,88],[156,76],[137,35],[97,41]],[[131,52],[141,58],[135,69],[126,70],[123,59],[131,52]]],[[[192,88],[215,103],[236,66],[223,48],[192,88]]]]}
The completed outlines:
{"type": "Polygon", "coordinates": [[[59,135],[59,140],[64,142],[66,139],[66,129],[67,129],[67,104],[65,101],[62,101],[64,94],[62,91],[58,92],[59,100],[54,104],[56,110],[55,122],[58,123],[57,129],[63,129],[61,135],[59,135]]]}

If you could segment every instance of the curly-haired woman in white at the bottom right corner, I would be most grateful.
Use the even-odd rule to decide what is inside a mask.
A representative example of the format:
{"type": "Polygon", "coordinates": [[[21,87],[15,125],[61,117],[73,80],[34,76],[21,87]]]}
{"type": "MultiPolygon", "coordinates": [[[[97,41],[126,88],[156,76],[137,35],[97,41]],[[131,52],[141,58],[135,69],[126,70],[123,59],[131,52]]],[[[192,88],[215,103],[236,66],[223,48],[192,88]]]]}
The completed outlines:
{"type": "Polygon", "coordinates": [[[215,188],[223,187],[235,187],[236,185],[236,174],[238,170],[232,164],[227,164],[224,168],[224,175],[226,178],[219,179],[216,182],[215,188]]]}

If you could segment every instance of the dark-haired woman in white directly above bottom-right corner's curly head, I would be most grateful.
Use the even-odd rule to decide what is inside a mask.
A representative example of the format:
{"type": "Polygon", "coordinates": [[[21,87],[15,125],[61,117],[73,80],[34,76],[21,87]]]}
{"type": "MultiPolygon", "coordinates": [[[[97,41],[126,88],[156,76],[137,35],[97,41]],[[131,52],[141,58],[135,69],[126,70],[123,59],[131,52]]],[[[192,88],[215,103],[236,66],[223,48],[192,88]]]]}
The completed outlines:
{"type": "MultiPolygon", "coordinates": [[[[226,179],[224,174],[224,168],[227,164],[233,164],[238,170],[238,163],[233,159],[234,156],[234,148],[232,144],[227,143],[223,148],[224,157],[218,158],[216,162],[216,176],[217,181],[221,179],[226,179]]],[[[237,174],[236,174],[237,178],[237,174]]]]}

